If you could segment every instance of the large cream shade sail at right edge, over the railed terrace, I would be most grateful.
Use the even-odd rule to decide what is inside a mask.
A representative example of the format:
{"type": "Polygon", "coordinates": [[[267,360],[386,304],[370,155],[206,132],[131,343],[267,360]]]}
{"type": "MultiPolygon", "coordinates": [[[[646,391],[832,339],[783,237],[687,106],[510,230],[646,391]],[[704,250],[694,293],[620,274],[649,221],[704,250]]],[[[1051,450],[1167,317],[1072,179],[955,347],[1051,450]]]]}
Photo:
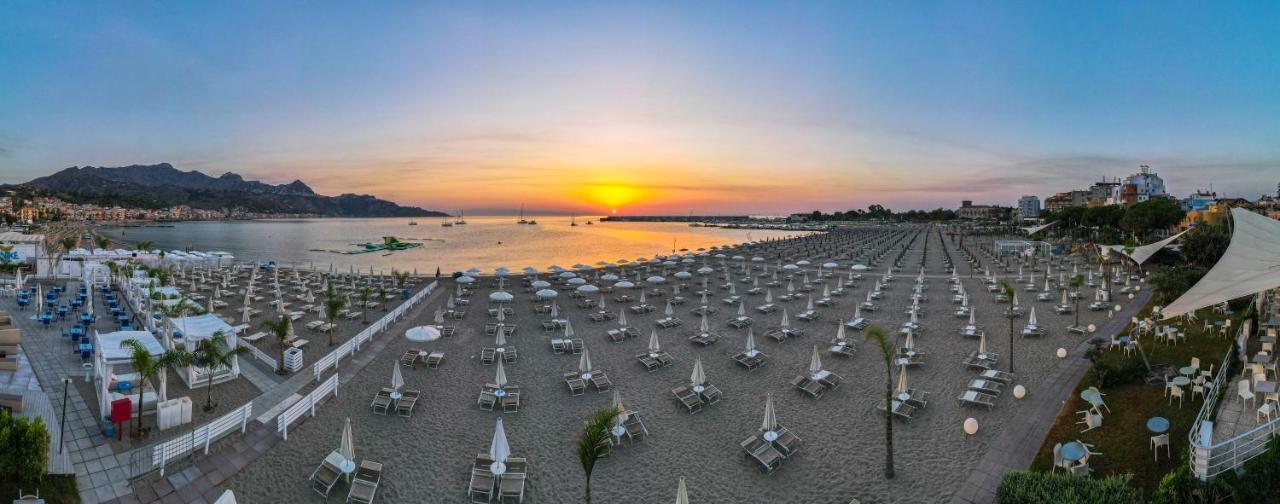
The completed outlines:
{"type": "Polygon", "coordinates": [[[1240,209],[1231,209],[1231,244],[1222,258],[1160,311],[1164,319],[1280,287],[1280,221],[1240,209]]]}

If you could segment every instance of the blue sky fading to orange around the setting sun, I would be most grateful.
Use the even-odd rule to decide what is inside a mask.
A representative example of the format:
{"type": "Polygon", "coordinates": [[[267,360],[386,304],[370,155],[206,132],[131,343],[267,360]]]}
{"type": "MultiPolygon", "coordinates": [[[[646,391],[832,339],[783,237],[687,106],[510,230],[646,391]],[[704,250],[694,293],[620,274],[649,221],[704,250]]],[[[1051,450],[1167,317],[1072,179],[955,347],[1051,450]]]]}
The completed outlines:
{"type": "Polygon", "coordinates": [[[1280,3],[35,1],[0,182],[170,162],[468,214],[1280,183],[1280,3]]]}

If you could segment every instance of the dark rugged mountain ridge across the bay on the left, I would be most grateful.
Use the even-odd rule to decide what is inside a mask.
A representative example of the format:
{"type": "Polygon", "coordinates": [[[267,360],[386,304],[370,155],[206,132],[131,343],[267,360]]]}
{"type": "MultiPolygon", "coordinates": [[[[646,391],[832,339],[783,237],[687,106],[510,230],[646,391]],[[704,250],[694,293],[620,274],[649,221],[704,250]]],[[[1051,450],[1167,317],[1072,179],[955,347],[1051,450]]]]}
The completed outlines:
{"type": "Polygon", "coordinates": [[[73,166],[20,184],[77,203],[201,210],[241,209],[261,214],[311,214],[342,217],[431,217],[445,214],[399,206],[369,194],[323,196],[302,180],[271,185],[234,173],[209,177],[168,162],[120,168],[73,166]]]}

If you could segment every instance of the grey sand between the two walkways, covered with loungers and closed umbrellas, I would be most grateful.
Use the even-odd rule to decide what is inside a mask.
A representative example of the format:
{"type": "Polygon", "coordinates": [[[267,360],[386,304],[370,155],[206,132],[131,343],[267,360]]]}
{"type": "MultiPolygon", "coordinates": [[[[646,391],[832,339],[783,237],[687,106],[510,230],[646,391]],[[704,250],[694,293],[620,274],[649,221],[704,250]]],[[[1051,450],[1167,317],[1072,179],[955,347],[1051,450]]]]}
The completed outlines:
{"type": "MultiPolygon", "coordinates": [[[[819,321],[796,321],[795,315],[805,307],[803,299],[778,303],[787,307],[794,326],[805,329],[806,335],[803,338],[783,343],[767,339],[763,336],[764,330],[776,327],[782,312],[767,316],[751,313],[760,349],[769,356],[768,365],[755,371],[746,371],[730,359],[741,350],[745,330],[726,325],[733,310],[719,303],[718,298],[726,295],[726,292],[716,290],[716,281],[712,303],[719,311],[710,319],[721,340],[707,348],[686,340],[698,327],[698,319],[690,310],[699,303],[696,297],[689,294],[690,303],[677,308],[677,316],[685,325],[658,330],[663,349],[676,358],[676,363],[654,372],[646,371],[635,356],[646,348],[653,320],[662,317],[660,298],[650,299],[652,304],[659,306],[654,313],[627,313],[630,325],[639,327],[643,338],[613,343],[605,338],[604,331],[616,324],[589,321],[585,310],[573,307],[573,302],[562,295],[558,299],[563,308],[562,316],[571,321],[577,338],[585,340],[596,367],[609,375],[626,407],[643,414],[650,432],[648,437],[618,448],[596,466],[593,480],[595,501],[668,500],[673,498],[680,476],[689,481],[690,496],[695,501],[795,501],[797,495],[812,503],[847,503],[851,499],[946,500],[968,476],[974,461],[986,453],[988,441],[1000,432],[1006,420],[1018,414],[1021,403],[1009,390],[996,400],[996,408],[989,412],[956,403],[955,398],[975,375],[961,361],[978,343],[957,334],[964,320],[954,316],[948,275],[943,271],[943,246],[957,264],[957,274],[970,293],[978,324],[988,331],[988,348],[998,352],[1002,358],[1009,354],[1007,329],[1004,329],[1007,322],[1001,315],[1004,307],[995,304],[980,283],[982,266],[970,278],[969,265],[960,258],[955,244],[950,239],[943,243],[937,233],[924,233],[924,229],[927,228],[914,228],[920,234],[902,255],[902,269],[895,272],[896,279],[886,287],[884,299],[879,301],[881,310],[864,313],[876,324],[891,329],[906,321],[909,316],[904,311],[910,304],[911,285],[920,260],[924,258],[929,299],[922,303],[920,322],[925,331],[915,339],[916,347],[927,357],[925,365],[913,368],[909,377],[911,386],[929,391],[931,397],[928,407],[918,412],[910,423],[895,422],[897,477],[891,481],[883,478],[883,416],[874,408],[883,397],[884,365],[873,353],[872,345],[861,342],[860,333],[849,333],[858,349],[855,357],[841,358],[826,352],[822,356],[827,370],[845,377],[842,388],[813,399],[790,385],[792,377],[808,372],[813,345],[826,348],[836,333],[836,320],[851,316],[854,306],[864,299],[874,279],[883,272],[884,265],[877,265],[865,272],[864,279],[850,288],[847,295],[835,298],[835,306],[819,307],[818,311],[823,315],[819,321]],[[925,242],[929,251],[927,257],[923,253],[925,242]],[[703,358],[708,381],[723,390],[724,400],[700,413],[689,414],[669,390],[687,384],[695,357],[703,358]],[[759,426],[767,391],[774,394],[780,423],[804,440],[800,453],[788,458],[772,475],[762,473],[758,464],[745,458],[739,448],[739,443],[759,426]],[[961,423],[968,417],[974,417],[980,423],[980,431],[974,436],[968,436],[961,430],[961,423]]],[[[852,233],[870,237],[876,232],[852,233]]],[[[808,239],[818,242],[823,238],[808,239]]],[[[969,247],[975,248],[977,242],[980,239],[970,238],[969,247]]],[[[778,249],[783,243],[788,242],[772,247],[778,249]]],[[[796,246],[799,248],[792,247],[785,253],[817,251],[800,243],[796,246]]],[[[888,264],[899,253],[899,248],[893,248],[892,253],[888,249],[884,252],[884,264],[888,264]]],[[[989,264],[989,260],[983,260],[984,265],[989,264]]],[[[822,261],[824,258],[813,257],[814,264],[822,261]]],[[[701,262],[699,258],[698,266],[701,262]]],[[[718,266],[718,260],[707,262],[718,266]]],[[[765,264],[772,269],[774,257],[769,257],[765,264]]],[[[444,284],[453,288],[451,280],[444,280],[444,284]]],[[[490,347],[493,343],[490,336],[484,335],[486,317],[481,308],[486,307],[486,295],[493,290],[494,279],[483,278],[479,284],[481,287],[475,290],[470,313],[454,324],[458,331],[453,338],[419,344],[406,340],[403,330],[380,336],[396,339],[357,377],[340,385],[335,400],[319,408],[315,418],[292,427],[288,441],[280,443],[253,462],[250,469],[238,473],[229,487],[248,503],[323,500],[310,490],[307,476],[337,446],[342,422],[351,417],[357,459],[372,459],[385,466],[379,499],[466,501],[470,463],[477,453],[488,450],[494,418],[500,414],[476,407],[483,384],[493,381],[494,374],[493,366],[479,362],[481,347],[490,347]],[[406,388],[422,390],[422,399],[413,417],[370,413],[372,395],[389,385],[392,367],[401,353],[416,348],[444,352],[447,359],[435,370],[422,366],[404,370],[406,388]]],[[[739,289],[741,293],[745,287],[740,285],[739,289]]],[[[513,303],[516,316],[507,322],[518,327],[509,338],[509,344],[518,348],[520,357],[517,362],[507,365],[506,371],[509,382],[522,388],[522,406],[518,413],[506,413],[503,418],[513,455],[530,461],[526,501],[577,501],[581,499],[584,481],[573,455],[573,441],[581,418],[594,408],[607,407],[611,394],[596,394],[589,389],[585,395],[570,395],[561,374],[576,368],[577,356],[554,354],[548,343],[549,334],[553,333],[544,333],[540,326],[545,316],[532,312],[529,294],[518,287],[512,290],[517,294],[513,303]]],[[[780,293],[781,289],[774,289],[774,295],[780,293]]],[[[608,310],[622,308],[612,302],[612,295],[614,294],[609,294],[608,310]]],[[[1016,382],[1025,385],[1028,394],[1036,394],[1041,379],[1057,361],[1055,350],[1059,347],[1073,348],[1084,336],[1069,335],[1064,330],[1073,319],[1053,315],[1053,302],[1036,302],[1034,293],[1021,292],[1020,288],[1019,297],[1028,311],[1032,306],[1037,307],[1041,325],[1052,331],[1050,336],[1041,339],[1016,336],[1016,382]]],[[[744,295],[748,307],[763,303],[760,298],[763,295],[744,295]]],[[[434,311],[442,307],[444,299],[442,295],[416,308],[412,312],[413,321],[430,324],[434,311]]],[[[1087,303],[1082,303],[1082,307],[1084,304],[1087,303]]],[[[1020,330],[1025,320],[1016,320],[1015,326],[1020,330]]],[[[1101,320],[1105,320],[1101,312],[1082,313],[1082,324],[1101,320]]],[[[411,325],[413,324],[403,324],[404,327],[411,325]]],[[[1007,368],[1004,359],[998,368],[1007,368]]],[[[334,491],[346,492],[346,486],[339,485],[334,491]]]]}

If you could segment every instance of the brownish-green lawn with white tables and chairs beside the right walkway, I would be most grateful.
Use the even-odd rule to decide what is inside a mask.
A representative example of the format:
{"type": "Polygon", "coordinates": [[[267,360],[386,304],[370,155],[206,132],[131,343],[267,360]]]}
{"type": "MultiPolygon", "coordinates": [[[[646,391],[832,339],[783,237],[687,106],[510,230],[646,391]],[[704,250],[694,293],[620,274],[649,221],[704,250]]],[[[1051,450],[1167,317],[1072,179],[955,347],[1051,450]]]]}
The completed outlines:
{"type": "MultiPolygon", "coordinates": [[[[1139,317],[1147,316],[1149,312],[1151,306],[1147,306],[1142,310],[1139,317]]],[[[1208,310],[1197,315],[1201,316],[1201,320],[1210,316],[1208,310]]],[[[1221,316],[1217,316],[1217,319],[1221,319],[1221,316]]],[[[1212,363],[1215,365],[1213,372],[1216,375],[1220,371],[1217,366],[1221,365],[1222,354],[1231,345],[1231,340],[1217,335],[1202,334],[1201,324],[1203,322],[1185,327],[1187,340],[1178,343],[1178,345],[1157,344],[1152,338],[1144,336],[1142,349],[1147,353],[1151,365],[1169,363],[1181,367],[1189,365],[1192,357],[1199,357],[1201,367],[1207,368],[1212,363]]],[[[1098,362],[1120,368],[1129,359],[1140,361],[1142,357],[1137,353],[1125,357],[1124,350],[1115,349],[1103,352],[1098,362]]],[[[1196,414],[1199,412],[1203,402],[1199,398],[1192,398],[1189,386],[1185,388],[1187,395],[1180,408],[1176,399],[1172,404],[1169,403],[1169,399],[1165,398],[1162,385],[1128,382],[1107,388],[1100,386],[1102,393],[1106,394],[1103,399],[1107,407],[1111,408],[1111,412],[1107,413],[1103,411],[1101,427],[1082,434],[1080,431],[1084,430],[1084,425],[1076,423],[1080,416],[1075,412],[1088,409],[1089,404],[1080,399],[1079,393],[1096,384],[1093,372],[1085,372],[1084,377],[1076,385],[1075,393],[1066,399],[1062,411],[1044,437],[1044,443],[1041,445],[1039,453],[1037,453],[1030,468],[1033,471],[1050,471],[1053,467],[1053,445],[1080,440],[1093,444],[1094,450],[1102,453],[1102,455],[1089,459],[1089,467],[1093,469],[1096,477],[1130,473],[1133,475],[1130,484],[1143,496],[1151,496],[1165,473],[1174,469],[1179,463],[1183,463],[1183,455],[1187,453],[1187,432],[1190,431],[1192,422],[1196,421],[1196,414]],[[1172,457],[1166,457],[1165,450],[1161,449],[1160,462],[1155,461],[1155,455],[1151,452],[1149,439],[1152,432],[1147,430],[1147,418],[1151,417],[1165,417],[1169,418],[1170,423],[1169,437],[1172,457]]]]}

